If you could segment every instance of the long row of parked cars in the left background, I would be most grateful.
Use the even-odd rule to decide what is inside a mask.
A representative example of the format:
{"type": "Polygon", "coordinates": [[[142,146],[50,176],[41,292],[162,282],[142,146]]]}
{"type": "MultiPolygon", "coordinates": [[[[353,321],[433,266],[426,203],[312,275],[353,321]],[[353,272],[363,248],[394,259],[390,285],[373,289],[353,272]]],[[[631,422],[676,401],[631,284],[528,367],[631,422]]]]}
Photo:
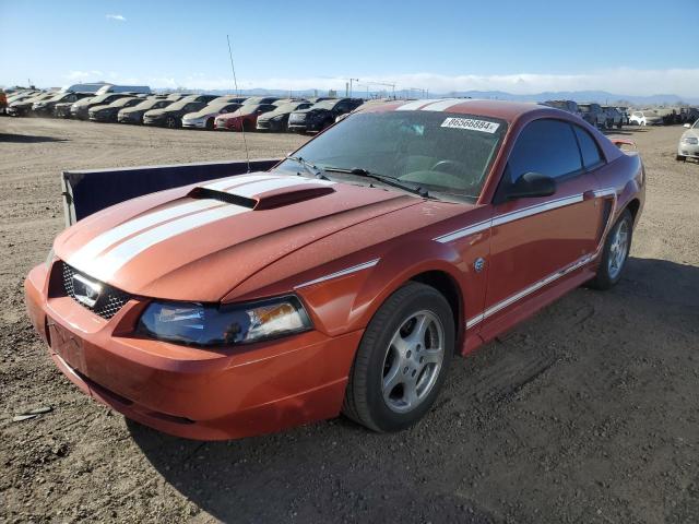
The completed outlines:
{"type": "Polygon", "coordinates": [[[68,91],[20,95],[8,108],[11,116],[54,116],[95,122],[222,131],[317,132],[359,107],[360,98],[280,98],[215,96],[119,90],[97,93],[68,91]]]}

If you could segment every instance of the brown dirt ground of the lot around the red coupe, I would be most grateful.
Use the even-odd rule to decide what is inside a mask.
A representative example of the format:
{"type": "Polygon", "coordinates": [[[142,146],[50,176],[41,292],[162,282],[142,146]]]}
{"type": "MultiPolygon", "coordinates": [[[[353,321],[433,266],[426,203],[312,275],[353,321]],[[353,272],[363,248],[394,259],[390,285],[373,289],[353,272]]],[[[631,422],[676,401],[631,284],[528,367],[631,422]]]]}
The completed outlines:
{"type": "Polygon", "coordinates": [[[0,521],[699,522],[699,163],[675,162],[682,131],[623,131],[649,182],[620,284],[455,359],[415,428],[337,418],[202,443],[80,393],[25,319],[22,281],[63,227],[60,170],[241,158],[241,136],[0,118],[0,521]]]}

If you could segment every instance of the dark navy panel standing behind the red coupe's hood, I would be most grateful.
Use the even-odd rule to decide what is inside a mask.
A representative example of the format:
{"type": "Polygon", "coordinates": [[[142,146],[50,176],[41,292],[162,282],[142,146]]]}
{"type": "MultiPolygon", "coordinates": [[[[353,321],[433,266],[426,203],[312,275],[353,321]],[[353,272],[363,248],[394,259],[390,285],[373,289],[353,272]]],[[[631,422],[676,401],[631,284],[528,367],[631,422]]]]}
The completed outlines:
{"type": "Polygon", "coordinates": [[[250,162],[206,162],[173,166],[143,166],[118,169],[63,171],[61,192],[66,227],[125,200],[135,199],[165,189],[216,178],[266,171],[281,158],[254,158],[250,162]]]}

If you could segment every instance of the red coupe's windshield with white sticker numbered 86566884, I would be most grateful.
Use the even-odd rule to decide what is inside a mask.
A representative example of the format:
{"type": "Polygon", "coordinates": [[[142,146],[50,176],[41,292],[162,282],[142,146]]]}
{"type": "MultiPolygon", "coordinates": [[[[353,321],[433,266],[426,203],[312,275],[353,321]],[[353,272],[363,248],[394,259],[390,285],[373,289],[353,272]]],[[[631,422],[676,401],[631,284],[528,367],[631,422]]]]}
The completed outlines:
{"type": "MultiPolygon", "coordinates": [[[[476,200],[500,146],[503,121],[433,111],[356,114],[294,153],[320,169],[363,169],[439,198],[476,200]]],[[[281,169],[299,171],[287,159],[281,169]]],[[[304,171],[303,172],[308,172],[304,171]]],[[[328,172],[330,178],[344,175],[328,172]]],[[[353,181],[357,180],[354,175],[353,181]]],[[[365,179],[365,183],[376,180],[365,179]]]]}

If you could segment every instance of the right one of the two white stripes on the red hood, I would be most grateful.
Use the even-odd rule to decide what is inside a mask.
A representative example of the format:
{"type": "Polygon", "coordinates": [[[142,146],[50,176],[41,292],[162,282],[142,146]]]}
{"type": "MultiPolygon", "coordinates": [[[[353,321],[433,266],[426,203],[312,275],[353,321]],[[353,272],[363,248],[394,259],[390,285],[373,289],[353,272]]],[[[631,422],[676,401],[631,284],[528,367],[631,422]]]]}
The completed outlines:
{"type": "Polygon", "coordinates": [[[142,233],[141,235],[130,238],[103,257],[93,259],[90,264],[91,267],[85,267],[83,271],[99,281],[108,281],[125,264],[156,243],[161,243],[176,237],[177,235],[181,235],[213,222],[246,212],[250,212],[250,209],[241,205],[226,204],[162,224],[153,229],[142,233]]]}

